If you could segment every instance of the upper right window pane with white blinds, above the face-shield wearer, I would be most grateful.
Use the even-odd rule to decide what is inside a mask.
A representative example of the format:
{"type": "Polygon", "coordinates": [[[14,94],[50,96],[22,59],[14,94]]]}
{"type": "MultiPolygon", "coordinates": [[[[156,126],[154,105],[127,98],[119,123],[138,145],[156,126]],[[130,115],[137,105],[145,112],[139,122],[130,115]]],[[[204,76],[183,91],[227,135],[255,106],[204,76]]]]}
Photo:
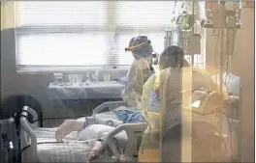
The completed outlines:
{"type": "Polygon", "coordinates": [[[171,24],[175,1],[118,1],[117,24],[164,26],[171,24]]]}

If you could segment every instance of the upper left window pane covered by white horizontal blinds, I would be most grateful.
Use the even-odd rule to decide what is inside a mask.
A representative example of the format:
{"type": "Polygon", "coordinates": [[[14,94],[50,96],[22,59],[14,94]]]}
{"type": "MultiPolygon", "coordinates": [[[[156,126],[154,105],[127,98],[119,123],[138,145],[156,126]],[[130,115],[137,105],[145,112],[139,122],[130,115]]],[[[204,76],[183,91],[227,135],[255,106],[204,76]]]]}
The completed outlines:
{"type": "Polygon", "coordinates": [[[16,7],[19,26],[103,25],[104,1],[20,1],[16,7]]]}

